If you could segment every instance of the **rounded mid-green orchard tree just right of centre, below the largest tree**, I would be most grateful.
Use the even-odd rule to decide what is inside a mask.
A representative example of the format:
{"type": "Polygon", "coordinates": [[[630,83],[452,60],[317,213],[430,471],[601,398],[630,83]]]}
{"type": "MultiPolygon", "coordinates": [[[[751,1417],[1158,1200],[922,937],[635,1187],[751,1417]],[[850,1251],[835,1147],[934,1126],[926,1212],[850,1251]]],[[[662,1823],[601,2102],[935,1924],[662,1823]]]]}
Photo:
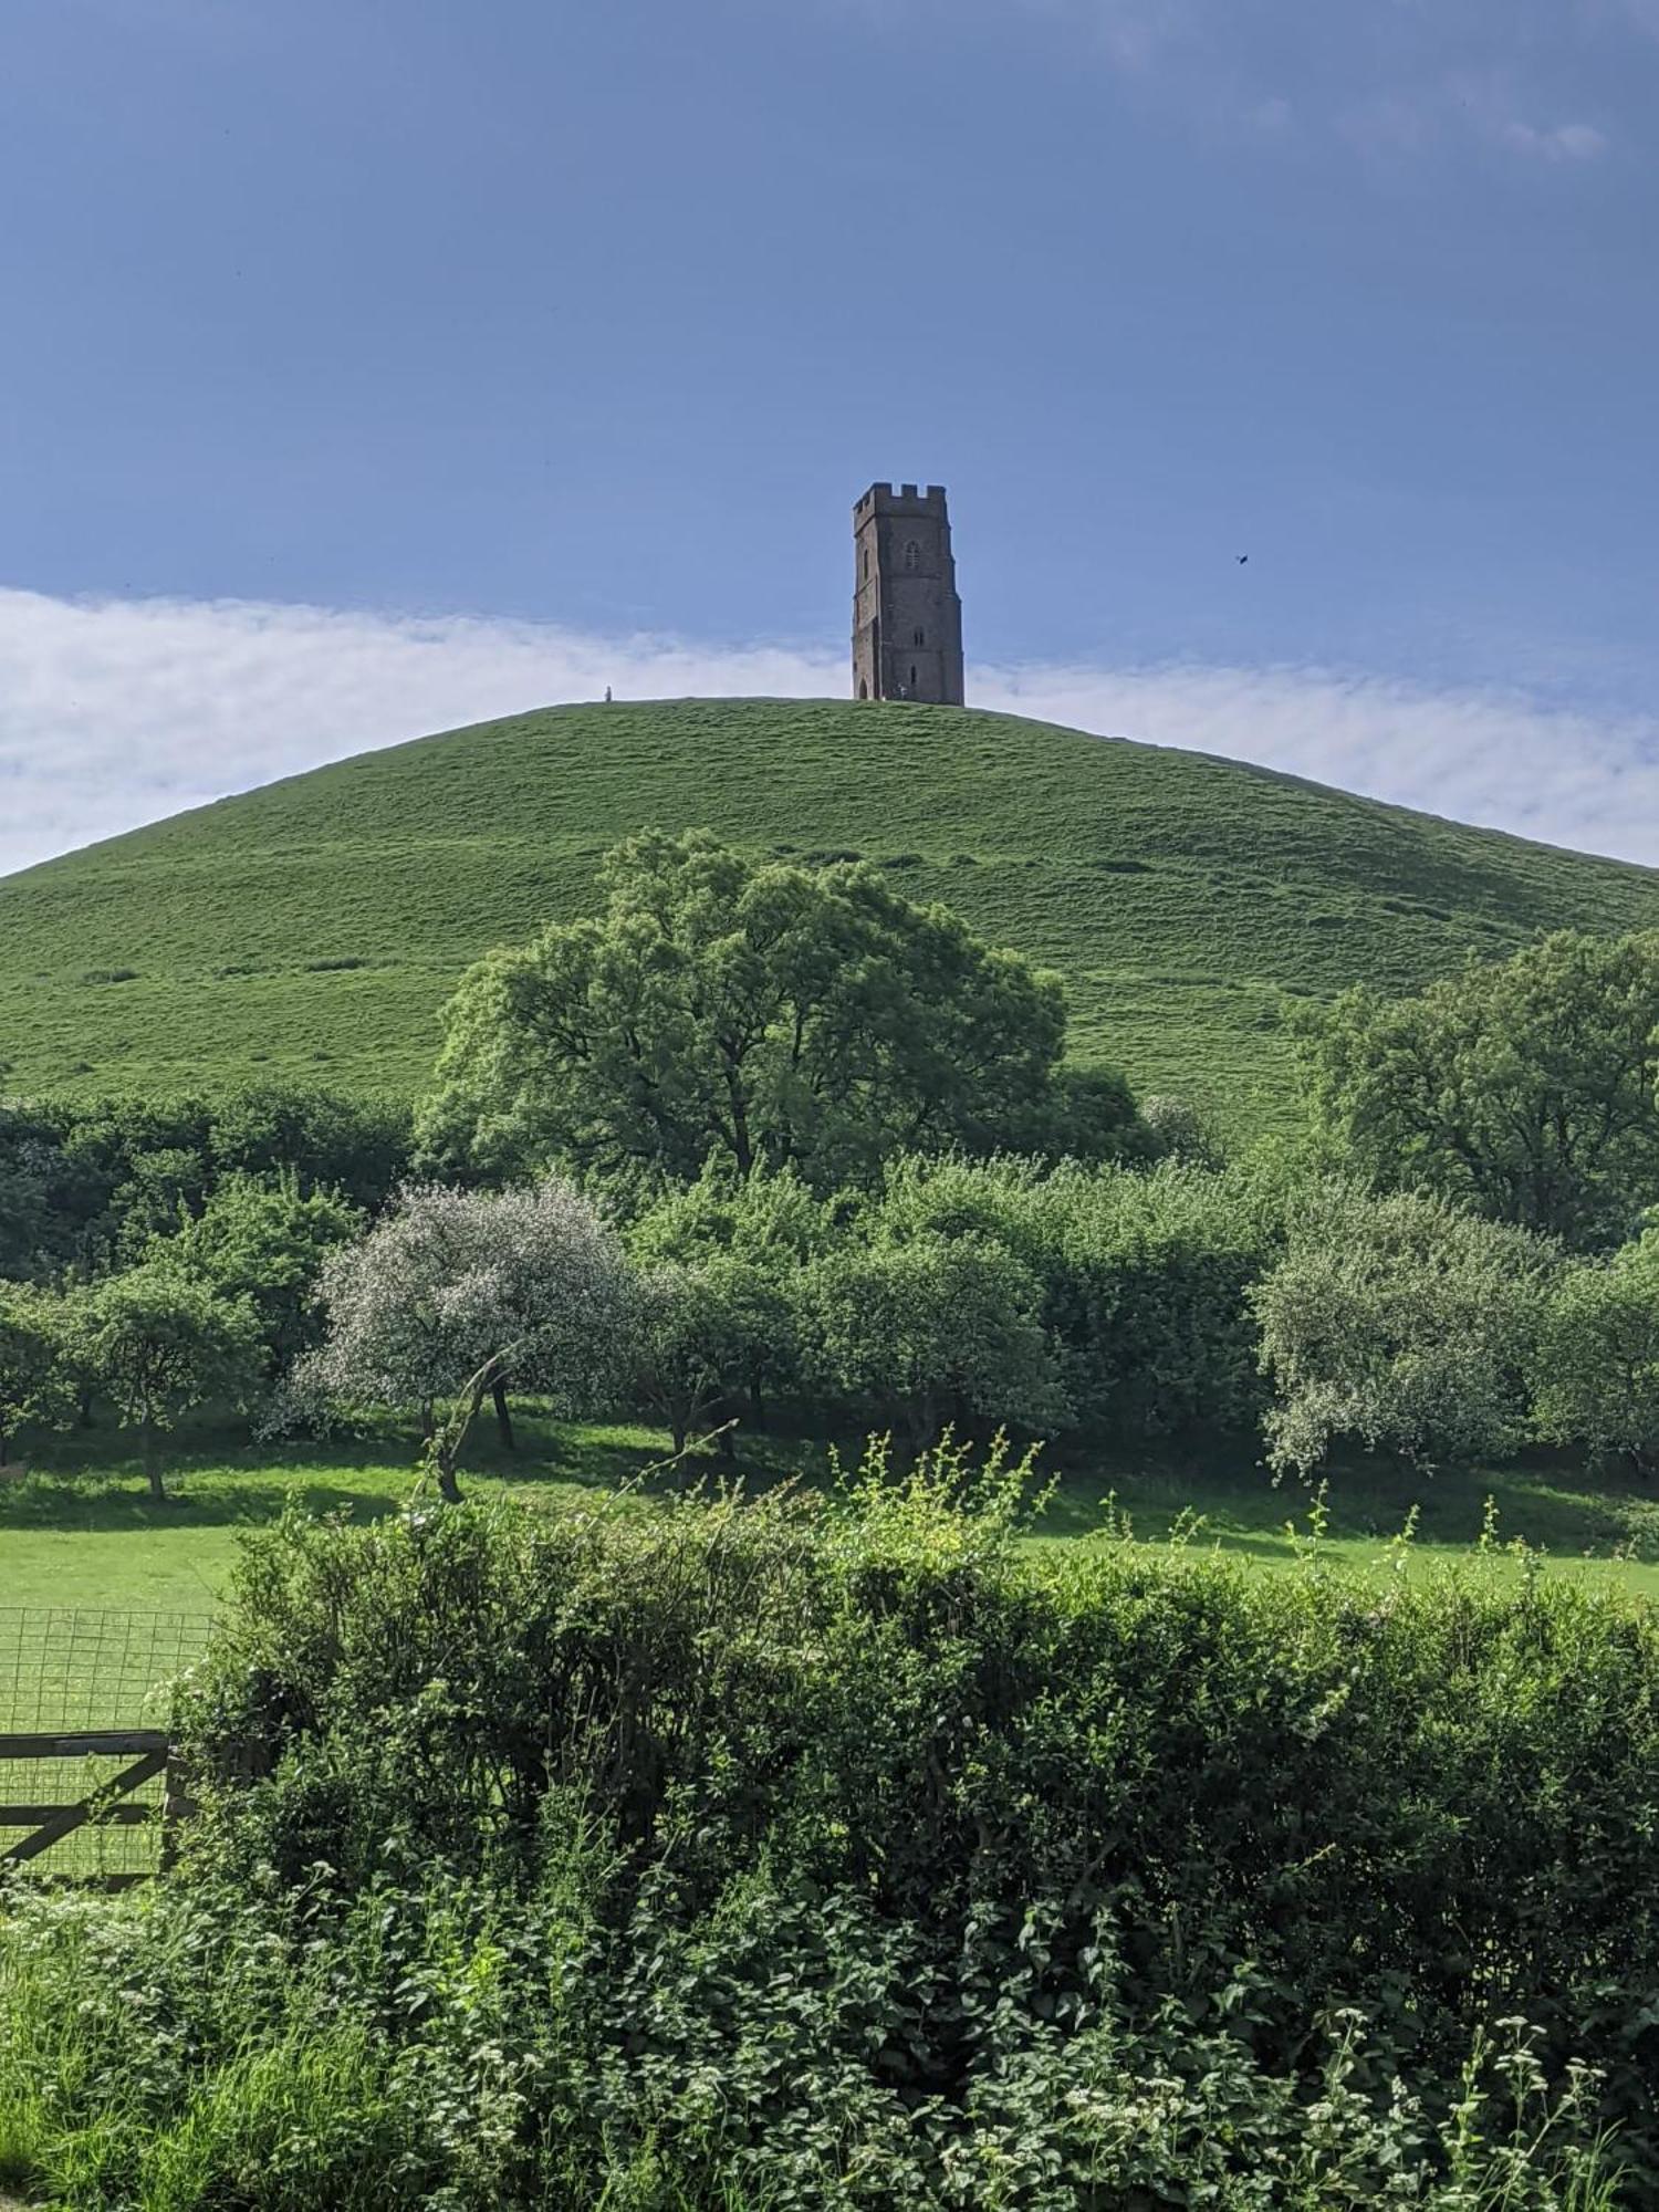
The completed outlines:
{"type": "Polygon", "coordinates": [[[982,1413],[1024,1429],[1066,1416],[1029,1270],[980,1237],[849,1243],[801,1283],[823,1383],[900,1425],[914,1451],[982,1413]]]}

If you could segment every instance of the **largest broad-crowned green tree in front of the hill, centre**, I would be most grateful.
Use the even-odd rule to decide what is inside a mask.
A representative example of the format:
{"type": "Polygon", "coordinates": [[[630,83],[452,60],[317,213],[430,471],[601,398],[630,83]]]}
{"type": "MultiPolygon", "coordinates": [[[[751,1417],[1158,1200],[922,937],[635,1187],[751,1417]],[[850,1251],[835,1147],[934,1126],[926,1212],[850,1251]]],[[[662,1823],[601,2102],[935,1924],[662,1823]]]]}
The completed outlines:
{"type": "Polygon", "coordinates": [[[869,1183],[898,1150],[1110,1146],[1113,1077],[1064,1077],[1057,978],[863,865],[754,865],[708,832],[604,863],[604,911],[473,967],[418,1117],[451,1172],[560,1161],[695,1181],[869,1183]]]}

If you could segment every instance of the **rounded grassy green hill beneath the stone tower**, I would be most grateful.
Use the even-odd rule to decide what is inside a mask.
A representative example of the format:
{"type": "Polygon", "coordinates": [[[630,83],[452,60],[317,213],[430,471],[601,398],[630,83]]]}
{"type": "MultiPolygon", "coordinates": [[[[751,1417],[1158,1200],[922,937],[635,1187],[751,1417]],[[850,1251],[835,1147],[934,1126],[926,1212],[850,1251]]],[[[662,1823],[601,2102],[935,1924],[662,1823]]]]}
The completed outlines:
{"type": "Polygon", "coordinates": [[[1659,874],[1009,714],[575,706],[319,768],[0,883],[11,1084],[414,1091],[487,945],[591,905],[639,825],[863,854],[1062,969],[1075,1048],[1272,1119],[1279,991],[1409,989],[1544,927],[1659,925],[1659,874]]]}

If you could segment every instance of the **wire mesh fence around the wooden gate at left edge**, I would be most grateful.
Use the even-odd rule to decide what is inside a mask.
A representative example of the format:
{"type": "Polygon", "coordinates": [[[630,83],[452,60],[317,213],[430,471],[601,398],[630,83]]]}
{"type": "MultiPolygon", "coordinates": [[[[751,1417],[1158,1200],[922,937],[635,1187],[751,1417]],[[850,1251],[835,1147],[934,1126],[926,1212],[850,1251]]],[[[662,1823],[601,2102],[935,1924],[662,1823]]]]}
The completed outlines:
{"type": "MultiPolygon", "coordinates": [[[[0,1606],[0,1736],[166,1728],[168,1690],[208,1644],[206,1613],[117,1613],[86,1606],[0,1606]]],[[[131,1765],[122,1754],[0,1761],[0,1809],[75,1805],[106,1792],[131,1765]]],[[[119,1801],[153,1818],[93,1818],[31,1867],[75,1880],[153,1874],[159,1858],[161,1776],[119,1801]]],[[[0,1820],[0,1858],[38,1820],[0,1820]]]]}

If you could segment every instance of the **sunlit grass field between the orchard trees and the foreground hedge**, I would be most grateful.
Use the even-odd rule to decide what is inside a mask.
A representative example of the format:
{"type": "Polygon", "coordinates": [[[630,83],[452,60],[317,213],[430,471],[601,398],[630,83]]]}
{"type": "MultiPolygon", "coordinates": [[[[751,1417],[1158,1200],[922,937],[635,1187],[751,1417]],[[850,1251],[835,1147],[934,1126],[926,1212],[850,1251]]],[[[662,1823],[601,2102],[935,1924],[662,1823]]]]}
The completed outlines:
{"type": "MultiPolygon", "coordinates": [[[[664,1475],[650,1473],[668,1453],[659,1431],[520,1427],[511,1458],[493,1442],[473,1455],[462,1475],[471,1495],[538,1502],[630,1486],[648,1511],[653,1493],[686,1480],[741,1473],[763,1486],[827,1473],[827,1451],[812,1442],[743,1442],[737,1467],[710,1458],[664,1475]]],[[[290,1500],[356,1522],[394,1513],[414,1491],[411,1462],[414,1444],[398,1436],[237,1449],[197,1433],[181,1444],[175,1498],[155,1506],[119,1438],[77,1442],[58,1467],[0,1491],[0,1606],[210,1613],[246,1528],[270,1522],[290,1500]]],[[[1053,1473],[1057,1491],[1033,1524],[1035,1542],[1104,1542],[1124,1524],[1137,1540],[1164,1542],[1186,1524],[1188,1542],[1287,1566],[1310,1540],[1310,1493],[1274,1489],[1248,1453],[1091,1455],[1055,1462],[1053,1473]]],[[[1480,1540],[1489,1500],[1500,1542],[1520,1537],[1546,1553],[1551,1568],[1606,1575],[1659,1597],[1659,1491],[1593,1480],[1548,1458],[1438,1475],[1378,1460],[1340,1467],[1327,1489],[1323,1546],[1352,1566],[1378,1562],[1416,1509],[1409,1557],[1451,1559],[1480,1540]]]]}

